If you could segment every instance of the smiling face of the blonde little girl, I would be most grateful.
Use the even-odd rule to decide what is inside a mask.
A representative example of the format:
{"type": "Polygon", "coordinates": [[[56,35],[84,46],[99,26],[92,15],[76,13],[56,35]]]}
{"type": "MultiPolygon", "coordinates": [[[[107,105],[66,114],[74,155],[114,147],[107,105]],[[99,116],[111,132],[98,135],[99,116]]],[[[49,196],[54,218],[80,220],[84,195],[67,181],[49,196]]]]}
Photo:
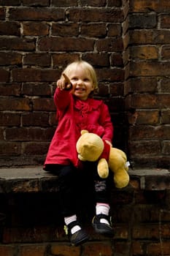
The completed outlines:
{"type": "Polygon", "coordinates": [[[80,65],[76,69],[69,70],[69,80],[72,83],[72,94],[78,99],[88,99],[88,95],[94,90],[93,80],[88,70],[80,65]]]}

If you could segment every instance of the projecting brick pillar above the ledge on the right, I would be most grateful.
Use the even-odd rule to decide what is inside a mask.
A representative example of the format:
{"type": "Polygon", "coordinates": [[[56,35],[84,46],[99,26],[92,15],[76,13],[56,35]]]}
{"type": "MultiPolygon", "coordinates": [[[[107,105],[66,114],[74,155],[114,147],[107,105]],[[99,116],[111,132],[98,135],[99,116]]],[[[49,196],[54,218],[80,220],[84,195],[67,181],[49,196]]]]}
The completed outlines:
{"type": "Polygon", "coordinates": [[[134,165],[169,167],[170,2],[131,0],[128,149],[134,165]]]}

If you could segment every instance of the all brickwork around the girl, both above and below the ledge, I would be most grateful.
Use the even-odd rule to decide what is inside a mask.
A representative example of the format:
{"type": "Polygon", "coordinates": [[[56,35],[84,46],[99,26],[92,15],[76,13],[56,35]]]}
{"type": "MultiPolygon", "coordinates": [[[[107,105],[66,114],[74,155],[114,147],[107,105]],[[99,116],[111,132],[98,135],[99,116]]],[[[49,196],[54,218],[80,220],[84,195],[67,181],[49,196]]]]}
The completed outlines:
{"type": "MultiPolygon", "coordinates": [[[[81,57],[96,68],[96,97],[109,106],[114,145],[127,152],[132,167],[169,168],[169,1],[0,4],[0,166],[42,165],[57,125],[55,81],[81,57]]],[[[157,175],[136,176],[131,188],[113,190],[115,238],[87,227],[91,240],[74,248],[61,219],[56,223],[55,178],[1,178],[0,212],[7,222],[0,228],[0,255],[169,255],[167,188],[169,177],[157,175]]]]}

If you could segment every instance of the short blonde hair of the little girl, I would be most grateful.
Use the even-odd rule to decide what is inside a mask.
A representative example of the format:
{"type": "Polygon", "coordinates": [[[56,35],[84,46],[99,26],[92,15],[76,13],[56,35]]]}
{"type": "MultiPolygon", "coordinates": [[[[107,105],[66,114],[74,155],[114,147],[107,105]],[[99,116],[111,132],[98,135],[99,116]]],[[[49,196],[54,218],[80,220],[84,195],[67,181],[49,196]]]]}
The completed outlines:
{"type": "Polygon", "coordinates": [[[76,69],[77,66],[82,67],[82,69],[85,69],[86,71],[89,72],[90,74],[90,78],[93,81],[93,87],[94,87],[94,91],[98,90],[98,82],[97,82],[97,76],[96,76],[96,71],[93,68],[93,66],[91,64],[89,64],[87,61],[74,61],[71,64],[69,64],[66,69],[63,70],[63,73],[65,73],[66,75],[69,76],[69,72],[72,69],[76,69]]]}

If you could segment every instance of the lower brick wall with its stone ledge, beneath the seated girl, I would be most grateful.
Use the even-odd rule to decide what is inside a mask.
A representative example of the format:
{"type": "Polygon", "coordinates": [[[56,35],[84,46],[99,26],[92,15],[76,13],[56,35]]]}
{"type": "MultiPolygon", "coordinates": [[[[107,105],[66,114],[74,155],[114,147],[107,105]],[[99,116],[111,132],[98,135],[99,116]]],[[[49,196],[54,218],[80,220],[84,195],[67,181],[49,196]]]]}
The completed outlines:
{"type": "Polygon", "coordinates": [[[89,200],[80,204],[83,226],[90,240],[75,247],[70,246],[63,230],[57,177],[40,167],[1,169],[1,255],[169,255],[169,171],[145,170],[145,173],[149,174],[131,170],[128,187],[112,188],[113,238],[95,233],[91,226],[94,206],[89,207],[89,200]],[[157,186],[152,187],[155,178],[157,186]]]}

